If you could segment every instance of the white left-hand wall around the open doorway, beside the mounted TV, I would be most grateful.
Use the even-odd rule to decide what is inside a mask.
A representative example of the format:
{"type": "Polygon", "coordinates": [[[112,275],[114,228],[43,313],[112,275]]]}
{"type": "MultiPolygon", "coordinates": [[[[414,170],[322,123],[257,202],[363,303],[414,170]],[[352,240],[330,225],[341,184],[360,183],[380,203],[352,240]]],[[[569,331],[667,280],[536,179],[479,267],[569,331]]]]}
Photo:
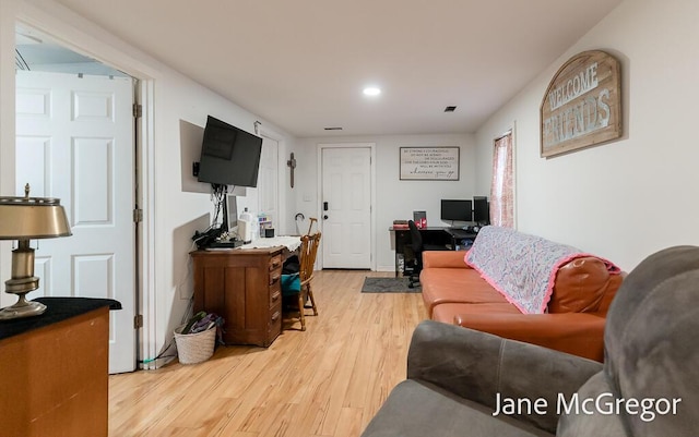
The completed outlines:
{"type": "MultiPolygon", "coordinates": [[[[193,247],[190,238],[194,230],[208,224],[212,213],[212,202],[208,194],[182,190],[182,168],[190,167],[180,162],[180,120],[203,126],[206,116],[212,114],[250,132],[254,121],[260,120],[266,129],[281,137],[281,156],[287,155],[286,149],[294,146],[294,138],[273,123],[222,98],[51,1],[3,0],[0,12],[0,192],[5,195],[13,194],[14,191],[15,20],[21,19],[45,31],[78,51],[92,54],[140,78],[152,81],[150,97],[155,110],[146,113],[146,119],[151,121],[144,150],[149,155],[144,156],[142,162],[146,171],[149,168],[151,170],[143,181],[143,189],[152,189],[142,205],[149,219],[144,227],[152,228],[151,241],[143,254],[152,262],[143,272],[146,284],[143,302],[146,331],[155,339],[144,345],[143,357],[150,359],[169,341],[173,329],[187,309],[192,293],[188,254],[193,247]],[[155,317],[147,317],[149,308],[155,317]]],[[[281,196],[285,203],[287,192],[281,193],[281,196]]],[[[9,248],[4,244],[1,248],[1,272],[7,278],[9,248]]]]}

